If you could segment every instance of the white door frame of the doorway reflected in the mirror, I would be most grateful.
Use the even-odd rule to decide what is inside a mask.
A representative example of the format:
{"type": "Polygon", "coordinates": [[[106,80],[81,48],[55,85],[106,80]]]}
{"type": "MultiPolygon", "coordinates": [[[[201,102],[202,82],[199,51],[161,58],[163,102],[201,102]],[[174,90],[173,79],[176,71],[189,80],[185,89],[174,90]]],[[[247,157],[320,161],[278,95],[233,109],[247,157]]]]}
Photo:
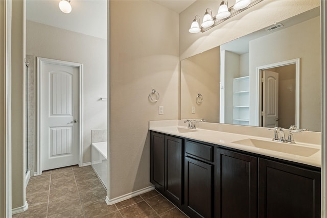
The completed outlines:
{"type": "Polygon", "coordinates": [[[261,75],[262,75],[262,70],[265,69],[270,69],[274,67],[279,67],[279,66],[285,66],[285,65],[290,65],[290,64],[295,64],[295,125],[300,128],[300,58],[292,59],[292,60],[287,60],[287,61],[282,61],[282,62],[277,62],[277,63],[272,63],[272,64],[267,64],[263,66],[258,66],[255,69],[255,124],[256,126],[259,126],[262,120],[261,116],[261,104],[262,104],[262,83],[260,82],[261,75]]]}

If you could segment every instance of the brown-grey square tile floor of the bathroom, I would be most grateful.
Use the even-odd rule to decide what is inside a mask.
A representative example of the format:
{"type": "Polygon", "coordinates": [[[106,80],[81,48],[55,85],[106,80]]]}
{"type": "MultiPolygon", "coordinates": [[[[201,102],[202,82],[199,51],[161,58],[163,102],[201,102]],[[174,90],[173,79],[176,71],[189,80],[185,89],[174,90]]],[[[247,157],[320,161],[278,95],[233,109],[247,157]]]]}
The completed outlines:
{"type": "Polygon", "coordinates": [[[156,190],[108,206],[107,191],[90,166],[69,166],[32,177],[27,211],[12,217],[187,217],[156,190]]]}

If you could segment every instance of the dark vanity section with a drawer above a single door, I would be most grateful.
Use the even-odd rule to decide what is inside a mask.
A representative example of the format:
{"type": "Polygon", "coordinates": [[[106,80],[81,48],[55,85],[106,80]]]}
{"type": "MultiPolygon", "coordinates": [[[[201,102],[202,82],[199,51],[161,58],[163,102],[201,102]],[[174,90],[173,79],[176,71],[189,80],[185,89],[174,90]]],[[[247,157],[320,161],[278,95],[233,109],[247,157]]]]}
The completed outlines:
{"type": "Polygon", "coordinates": [[[185,143],[184,207],[190,217],[213,217],[214,147],[185,143]]]}

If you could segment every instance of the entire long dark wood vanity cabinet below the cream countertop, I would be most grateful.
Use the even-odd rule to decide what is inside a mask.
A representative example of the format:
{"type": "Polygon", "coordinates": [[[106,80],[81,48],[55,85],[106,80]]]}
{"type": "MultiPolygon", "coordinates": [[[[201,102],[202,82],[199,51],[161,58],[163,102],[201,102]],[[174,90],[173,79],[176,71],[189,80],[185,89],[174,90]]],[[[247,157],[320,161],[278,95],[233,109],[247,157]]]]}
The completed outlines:
{"type": "Polygon", "coordinates": [[[150,153],[151,182],[191,218],[320,217],[318,167],[157,132],[150,153]]]}

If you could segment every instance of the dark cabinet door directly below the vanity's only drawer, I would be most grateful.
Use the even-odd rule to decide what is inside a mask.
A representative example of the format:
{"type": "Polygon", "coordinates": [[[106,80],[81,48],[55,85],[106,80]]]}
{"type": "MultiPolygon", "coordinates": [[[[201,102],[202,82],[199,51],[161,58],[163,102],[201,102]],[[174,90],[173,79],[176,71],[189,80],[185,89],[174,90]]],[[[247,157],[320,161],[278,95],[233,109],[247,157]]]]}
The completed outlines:
{"type": "Polygon", "coordinates": [[[213,166],[185,157],[185,207],[191,217],[213,215],[213,166]]]}

